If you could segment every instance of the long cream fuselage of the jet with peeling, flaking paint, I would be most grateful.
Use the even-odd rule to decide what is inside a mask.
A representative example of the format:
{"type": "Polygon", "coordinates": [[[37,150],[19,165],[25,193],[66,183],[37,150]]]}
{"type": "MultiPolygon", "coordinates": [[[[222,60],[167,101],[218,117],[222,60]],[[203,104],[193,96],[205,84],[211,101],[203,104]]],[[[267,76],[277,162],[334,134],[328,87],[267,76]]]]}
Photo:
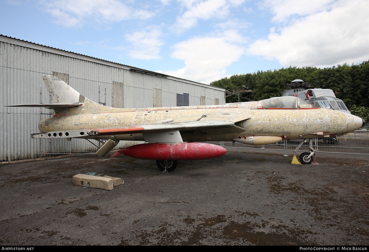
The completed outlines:
{"type": "MultiPolygon", "coordinates": [[[[243,132],[232,128],[181,131],[183,141],[232,141],[243,136],[279,136],[284,140],[315,138],[354,131],[362,126],[360,117],[328,109],[263,109],[260,102],[238,104],[118,109],[85,98],[83,105],[55,110],[56,115],[39,124],[42,132],[148,125],[165,122],[203,120],[233,121],[243,132]],[[242,116],[250,118],[242,120],[242,116]],[[324,133],[322,133],[324,132],[324,133]]],[[[144,141],[142,134],[87,136],[83,138],[144,141]]]]}

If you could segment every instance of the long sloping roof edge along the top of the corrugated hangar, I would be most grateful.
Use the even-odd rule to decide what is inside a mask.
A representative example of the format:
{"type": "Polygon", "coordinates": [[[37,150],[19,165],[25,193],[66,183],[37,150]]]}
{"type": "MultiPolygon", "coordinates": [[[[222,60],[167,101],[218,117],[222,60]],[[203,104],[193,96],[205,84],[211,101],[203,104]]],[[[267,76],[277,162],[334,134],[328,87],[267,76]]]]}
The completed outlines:
{"type": "Polygon", "coordinates": [[[178,80],[178,81],[182,81],[182,82],[184,81],[184,82],[187,82],[189,84],[195,84],[195,85],[199,85],[199,86],[204,86],[206,88],[212,88],[212,89],[218,89],[220,91],[225,91],[224,88],[219,88],[217,86],[207,85],[207,84],[203,84],[203,83],[196,82],[196,81],[190,81],[188,79],[182,79],[182,78],[178,78],[178,77],[175,77],[175,76],[161,74],[159,72],[145,70],[145,69],[138,68],[138,67],[132,67],[130,65],[124,65],[124,64],[121,64],[121,63],[113,62],[113,61],[103,60],[101,58],[95,58],[95,57],[88,56],[88,55],[85,55],[85,54],[66,51],[66,50],[63,50],[63,49],[59,49],[59,48],[55,48],[55,47],[51,47],[51,46],[45,46],[45,45],[37,44],[37,43],[34,43],[34,42],[30,42],[30,41],[27,41],[27,40],[17,39],[17,38],[13,38],[13,37],[10,37],[10,36],[0,34],[0,41],[5,42],[5,43],[11,43],[10,41],[4,41],[4,40],[15,40],[15,41],[18,41],[18,43],[16,45],[19,45],[19,46],[30,47],[29,45],[34,45],[33,47],[30,47],[30,48],[37,49],[37,50],[44,50],[44,51],[50,52],[50,53],[57,53],[57,52],[55,52],[55,50],[56,50],[56,51],[59,51],[57,54],[61,54],[61,52],[63,52],[62,55],[68,56],[68,57],[73,57],[71,55],[68,55],[68,54],[73,54],[73,55],[75,55],[74,57],[79,56],[78,58],[80,58],[82,60],[89,60],[89,61],[93,61],[93,62],[96,62],[96,63],[104,64],[104,65],[110,65],[112,67],[118,67],[118,68],[123,68],[123,69],[131,70],[131,71],[138,71],[138,72],[142,72],[142,73],[148,73],[148,74],[156,75],[158,77],[166,77],[166,78],[170,77],[170,79],[173,79],[173,80],[178,80]],[[2,39],[2,38],[7,38],[7,39],[2,39]],[[25,44],[22,45],[22,43],[25,43],[25,44]],[[107,63],[109,63],[109,64],[107,64],[107,63]],[[122,66],[124,66],[124,67],[122,67],[122,66]]]}

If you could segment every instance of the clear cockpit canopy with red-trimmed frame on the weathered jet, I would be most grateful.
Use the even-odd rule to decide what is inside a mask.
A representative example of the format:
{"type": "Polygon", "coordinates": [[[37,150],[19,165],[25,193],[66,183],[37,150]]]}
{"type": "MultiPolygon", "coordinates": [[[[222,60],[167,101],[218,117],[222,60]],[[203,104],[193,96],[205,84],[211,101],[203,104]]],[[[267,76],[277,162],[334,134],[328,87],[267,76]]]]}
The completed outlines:
{"type": "Polygon", "coordinates": [[[314,105],[294,96],[272,97],[261,100],[264,109],[318,109],[314,105]]]}

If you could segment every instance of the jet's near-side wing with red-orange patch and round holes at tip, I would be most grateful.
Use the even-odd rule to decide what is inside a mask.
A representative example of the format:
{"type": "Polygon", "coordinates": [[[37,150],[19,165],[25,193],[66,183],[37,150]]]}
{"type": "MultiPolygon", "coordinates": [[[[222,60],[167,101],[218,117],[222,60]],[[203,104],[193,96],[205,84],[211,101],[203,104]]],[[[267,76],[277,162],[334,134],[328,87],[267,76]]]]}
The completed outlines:
{"type": "Polygon", "coordinates": [[[242,132],[245,129],[237,127],[232,121],[186,121],[172,123],[156,123],[148,125],[121,126],[111,128],[80,129],[69,131],[51,131],[31,134],[31,138],[75,138],[83,136],[104,136],[124,134],[160,133],[169,131],[187,131],[197,129],[224,129],[230,128],[232,132],[242,132]]]}

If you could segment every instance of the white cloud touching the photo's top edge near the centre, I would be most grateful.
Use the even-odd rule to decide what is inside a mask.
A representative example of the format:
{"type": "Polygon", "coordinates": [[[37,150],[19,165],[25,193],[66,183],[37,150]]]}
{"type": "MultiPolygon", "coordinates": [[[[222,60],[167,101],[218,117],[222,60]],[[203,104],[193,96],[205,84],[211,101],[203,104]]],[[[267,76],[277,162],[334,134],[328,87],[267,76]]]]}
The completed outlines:
{"type": "Polygon", "coordinates": [[[182,16],[177,17],[172,30],[176,33],[183,32],[197,25],[197,19],[225,18],[230,13],[230,8],[238,6],[245,0],[182,0],[182,6],[187,10],[182,16]]]}

